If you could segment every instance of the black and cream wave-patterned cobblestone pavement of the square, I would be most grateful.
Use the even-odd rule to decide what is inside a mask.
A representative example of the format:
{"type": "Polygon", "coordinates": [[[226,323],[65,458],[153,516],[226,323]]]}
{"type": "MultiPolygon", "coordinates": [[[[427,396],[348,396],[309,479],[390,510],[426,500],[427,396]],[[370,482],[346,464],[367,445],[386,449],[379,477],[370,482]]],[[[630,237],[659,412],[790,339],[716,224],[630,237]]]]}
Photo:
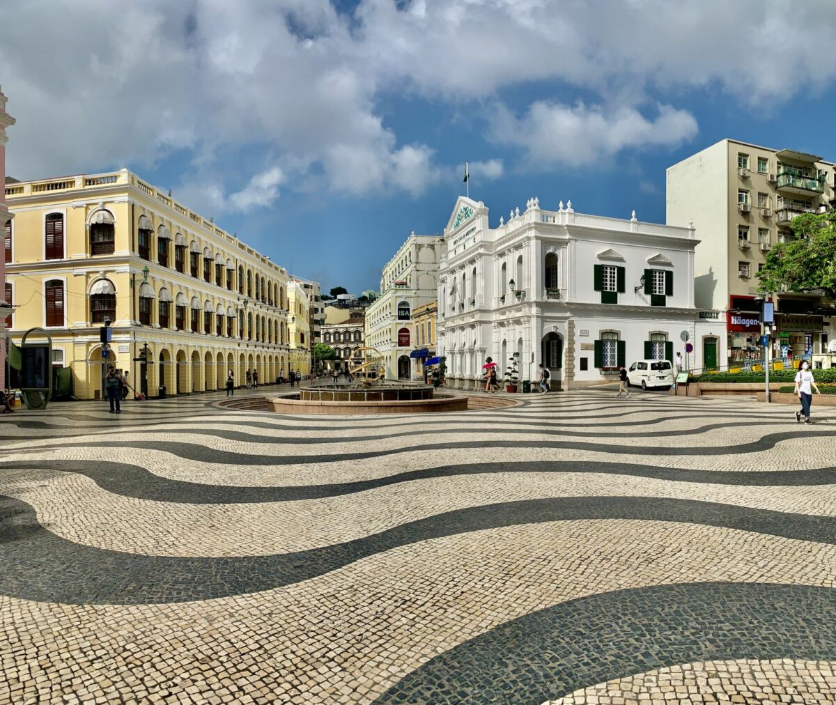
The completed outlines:
{"type": "Polygon", "coordinates": [[[836,414],[0,417],[0,702],[836,702],[836,414]]]}

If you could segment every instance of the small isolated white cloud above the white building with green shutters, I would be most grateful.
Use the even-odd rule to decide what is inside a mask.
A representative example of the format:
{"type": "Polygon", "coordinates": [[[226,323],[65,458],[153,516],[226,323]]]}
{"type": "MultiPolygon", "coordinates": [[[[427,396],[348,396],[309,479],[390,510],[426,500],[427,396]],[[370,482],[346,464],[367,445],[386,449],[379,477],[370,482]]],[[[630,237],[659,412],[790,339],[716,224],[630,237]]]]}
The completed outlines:
{"type": "Polygon", "coordinates": [[[660,105],[658,113],[649,120],[630,107],[537,102],[523,118],[497,109],[492,136],[525,150],[526,168],[545,169],[558,163],[589,164],[628,148],[677,146],[696,135],[696,120],[686,110],[660,105]]]}

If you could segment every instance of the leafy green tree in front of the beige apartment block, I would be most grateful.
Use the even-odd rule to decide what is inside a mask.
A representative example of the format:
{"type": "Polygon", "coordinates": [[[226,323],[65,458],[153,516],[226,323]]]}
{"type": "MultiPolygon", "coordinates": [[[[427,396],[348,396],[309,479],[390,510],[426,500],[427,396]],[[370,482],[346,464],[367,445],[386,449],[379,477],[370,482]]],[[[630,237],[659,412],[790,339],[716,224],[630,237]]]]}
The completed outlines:
{"type": "Polygon", "coordinates": [[[803,213],[791,222],[795,238],[777,243],[757,274],[762,293],[820,289],[836,299],[836,222],[833,213],[803,213]]]}

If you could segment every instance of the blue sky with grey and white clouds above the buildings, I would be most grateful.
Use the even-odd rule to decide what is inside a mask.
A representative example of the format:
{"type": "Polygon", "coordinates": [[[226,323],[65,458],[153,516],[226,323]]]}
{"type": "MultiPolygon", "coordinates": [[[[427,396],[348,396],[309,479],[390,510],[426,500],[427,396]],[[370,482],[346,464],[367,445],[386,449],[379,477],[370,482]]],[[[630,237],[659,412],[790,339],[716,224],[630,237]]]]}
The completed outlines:
{"type": "Polygon", "coordinates": [[[773,0],[3,13],[11,175],[128,166],[325,289],[376,288],[410,231],[441,232],[465,160],[492,224],[533,196],[664,222],[665,168],[726,136],[836,161],[831,0],[792,22],[773,0]]]}

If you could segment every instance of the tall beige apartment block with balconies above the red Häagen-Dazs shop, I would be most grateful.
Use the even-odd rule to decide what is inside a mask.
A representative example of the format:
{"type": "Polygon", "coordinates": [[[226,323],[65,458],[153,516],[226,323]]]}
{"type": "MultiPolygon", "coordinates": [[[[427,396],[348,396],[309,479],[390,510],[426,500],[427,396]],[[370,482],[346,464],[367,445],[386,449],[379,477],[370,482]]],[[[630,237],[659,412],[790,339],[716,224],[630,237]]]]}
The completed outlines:
{"type": "MultiPolygon", "coordinates": [[[[791,149],[721,140],[667,170],[666,222],[693,223],[696,304],[726,323],[728,362],[762,357],[757,321],[757,273],[774,243],[793,237],[802,213],[828,210],[834,165],[791,149]]],[[[772,355],[785,360],[826,350],[830,321],[816,294],[776,294],[772,355]]]]}

